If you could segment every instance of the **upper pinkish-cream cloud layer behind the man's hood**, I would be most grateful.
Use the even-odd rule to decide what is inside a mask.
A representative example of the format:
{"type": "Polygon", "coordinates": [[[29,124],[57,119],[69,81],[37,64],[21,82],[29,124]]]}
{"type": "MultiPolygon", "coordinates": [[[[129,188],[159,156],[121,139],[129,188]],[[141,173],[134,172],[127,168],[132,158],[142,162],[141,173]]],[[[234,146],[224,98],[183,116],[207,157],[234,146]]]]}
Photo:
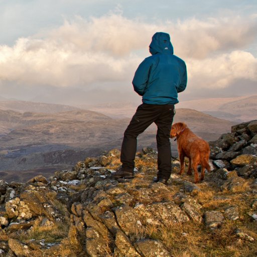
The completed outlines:
{"type": "Polygon", "coordinates": [[[109,14],[88,20],[81,17],[66,20],[63,26],[47,36],[63,43],[69,42],[78,49],[124,56],[148,48],[157,31],[171,34],[179,56],[202,59],[217,51],[240,49],[253,42],[257,36],[257,18],[208,18],[204,21],[192,18],[177,23],[155,21],[152,24],[109,14]]]}

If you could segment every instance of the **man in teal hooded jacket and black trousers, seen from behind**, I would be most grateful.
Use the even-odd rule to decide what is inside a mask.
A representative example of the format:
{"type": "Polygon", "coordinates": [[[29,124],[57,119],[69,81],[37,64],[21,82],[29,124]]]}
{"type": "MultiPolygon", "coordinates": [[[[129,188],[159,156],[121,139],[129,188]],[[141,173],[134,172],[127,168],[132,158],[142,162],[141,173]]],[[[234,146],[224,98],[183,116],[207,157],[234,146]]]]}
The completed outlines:
{"type": "Polygon", "coordinates": [[[134,177],[137,137],[155,122],[159,171],[154,182],[166,184],[171,175],[170,131],[174,104],[178,103],[178,93],[186,88],[187,70],[185,62],[173,55],[169,34],[155,33],[149,51],[152,56],[139,65],[132,82],[135,91],[143,96],[143,104],[124,132],[120,155],[122,166],[112,173],[112,177],[134,177]]]}

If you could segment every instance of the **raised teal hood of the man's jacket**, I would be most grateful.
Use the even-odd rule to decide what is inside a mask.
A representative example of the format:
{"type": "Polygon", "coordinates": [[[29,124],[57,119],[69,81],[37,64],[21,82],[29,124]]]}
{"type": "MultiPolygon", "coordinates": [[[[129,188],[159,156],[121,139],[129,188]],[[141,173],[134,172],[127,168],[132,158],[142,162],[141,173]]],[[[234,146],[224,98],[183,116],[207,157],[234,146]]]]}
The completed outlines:
{"type": "Polygon", "coordinates": [[[171,38],[168,33],[157,32],[152,38],[152,42],[149,46],[149,52],[154,55],[157,53],[173,54],[173,46],[171,44],[171,38]]]}

